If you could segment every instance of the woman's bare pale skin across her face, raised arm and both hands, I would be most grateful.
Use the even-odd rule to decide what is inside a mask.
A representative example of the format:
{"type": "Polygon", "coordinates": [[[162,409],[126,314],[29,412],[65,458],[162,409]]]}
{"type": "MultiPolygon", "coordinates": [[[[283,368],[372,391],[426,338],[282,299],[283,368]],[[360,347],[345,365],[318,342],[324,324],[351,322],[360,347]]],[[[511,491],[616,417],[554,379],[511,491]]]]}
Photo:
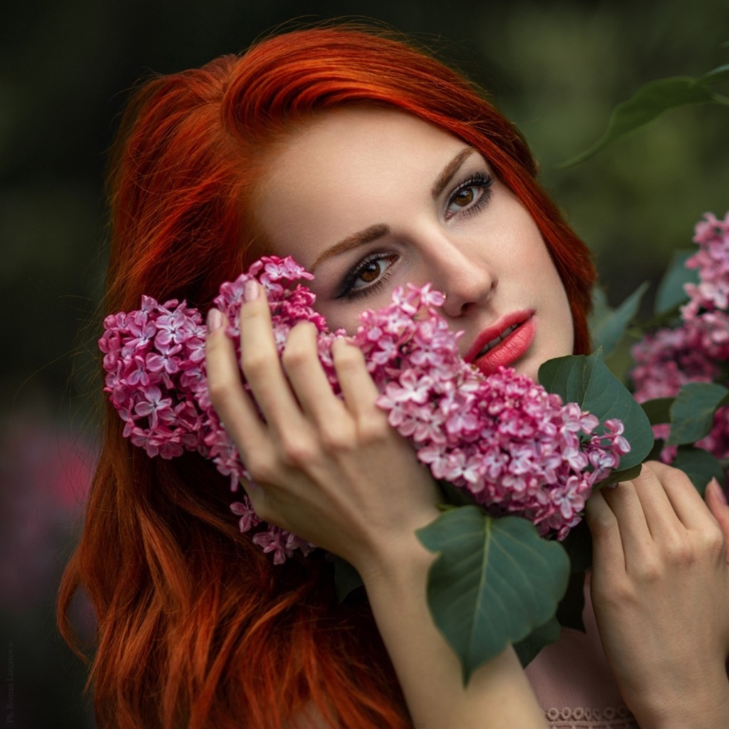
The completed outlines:
{"type": "MultiPolygon", "coordinates": [[[[464,331],[464,352],[485,327],[529,311],[537,334],[512,364],[535,376],[546,359],[572,351],[569,307],[531,217],[488,174],[461,140],[414,117],[341,109],[278,150],[256,214],[273,252],[316,268],[317,308],[332,328],[353,330],[357,313],[387,303],[397,284],[432,281],[448,295],[443,315],[464,331]]],[[[310,324],[292,330],[279,361],[257,286],[241,312],[241,362],[222,316],[214,311],[208,324],[211,398],[257,483],[247,486],[256,511],[362,575],[413,725],[546,726],[512,649],[462,684],[426,606],[434,555],[415,537],[437,516],[437,490],[376,407],[359,350],[335,343],[339,399],[310,324]]],[[[707,502],[680,472],[651,464],[588,506],[601,638],[644,729],[729,726],[729,509],[714,486],[707,502]]]]}

